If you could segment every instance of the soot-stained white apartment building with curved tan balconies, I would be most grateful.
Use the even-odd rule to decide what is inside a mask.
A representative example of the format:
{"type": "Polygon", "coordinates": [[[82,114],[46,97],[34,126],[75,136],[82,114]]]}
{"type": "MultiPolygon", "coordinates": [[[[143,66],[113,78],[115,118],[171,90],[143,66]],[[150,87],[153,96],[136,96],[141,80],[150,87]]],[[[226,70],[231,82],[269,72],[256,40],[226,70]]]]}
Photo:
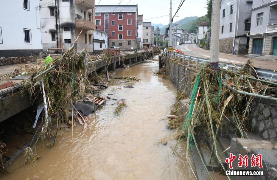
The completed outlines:
{"type": "Polygon", "coordinates": [[[48,48],[69,49],[78,36],[74,45],[77,52],[85,48],[88,52],[93,51],[90,42],[95,29],[94,0],[55,0],[51,3],[49,0],[40,0],[39,2],[44,51],[48,48]]]}

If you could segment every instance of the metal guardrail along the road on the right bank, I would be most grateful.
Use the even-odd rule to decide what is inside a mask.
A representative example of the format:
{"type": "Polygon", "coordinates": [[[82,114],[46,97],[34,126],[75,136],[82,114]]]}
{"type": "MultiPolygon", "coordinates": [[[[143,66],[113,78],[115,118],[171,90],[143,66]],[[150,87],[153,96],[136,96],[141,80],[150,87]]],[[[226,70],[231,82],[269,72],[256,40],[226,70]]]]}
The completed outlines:
{"type": "MultiPolygon", "coordinates": [[[[189,60],[188,64],[190,63],[190,60],[195,61],[195,62],[197,62],[196,66],[198,65],[198,62],[199,63],[206,63],[206,62],[210,61],[210,60],[204,59],[204,58],[197,58],[197,57],[194,57],[194,56],[181,55],[181,54],[176,53],[176,52],[168,52],[168,55],[171,56],[171,57],[174,57],[174,58],[178,57],[179,61],[180,61],[180,58],[183,58],[183,59],[186,58],[186,59],[189,60]]],[[[237,71],[236,67],[231,63],[220,62],[219,66],[221,68],[223,68],[225,66],[228,66],[228,67],[231,67],[232,70],[237,71]]],[[[237,64],[236,64],[236,66],[239,67],[239,68],[243,67],[242,65],[237,65],[237,64]]],[[[257,67],[254,67],[254,69],[256,70],[259,77],[267,79],[267,80],[270,80],[271,77],[272,77],[272,79],[271,79],[272,81],[277,81],[277,71],[273,72],[273,70],[270,70],[270,69],[262,69],[262,68],[257,68],[257,67]]]]}

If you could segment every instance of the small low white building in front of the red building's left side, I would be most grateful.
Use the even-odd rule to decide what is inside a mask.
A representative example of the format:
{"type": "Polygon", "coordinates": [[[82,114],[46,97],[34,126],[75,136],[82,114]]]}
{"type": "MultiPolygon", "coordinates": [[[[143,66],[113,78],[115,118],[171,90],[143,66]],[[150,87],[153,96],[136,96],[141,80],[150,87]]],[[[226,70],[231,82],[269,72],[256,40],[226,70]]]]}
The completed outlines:
{"type": "Polygon", "coordinates": [[[101,30],[94,30],[93,52],[103,52],[103,49],[108,48],[108,33],[101,30]]]}

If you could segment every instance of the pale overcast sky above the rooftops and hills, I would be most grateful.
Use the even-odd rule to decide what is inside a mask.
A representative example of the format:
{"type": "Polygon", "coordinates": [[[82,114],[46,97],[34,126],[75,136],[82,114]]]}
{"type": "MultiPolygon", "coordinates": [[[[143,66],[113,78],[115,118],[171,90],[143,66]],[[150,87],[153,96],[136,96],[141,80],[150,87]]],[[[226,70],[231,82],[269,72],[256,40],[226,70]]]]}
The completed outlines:
{"type": "MultiPolygon", "coordinates": [[[[95,6],[100,0],[95,1],[95,6]]],[[[117,5],[121,0],[101,0],[99,5],[117,5]]],[[[122,0],[120,5],[125,5],[130,0],[122,0]]],[[[172,16],[175,14],[180,1],[183,0],[172,0],[172,16]]],[[[152,21],[155,24],[168,24],[169,16],[155,18],[163,15],[169,15],[170,0],[131,0],[128,5],[138,4],[138,14],[143,14],[143,19],[152,21]],[[154,18],[154,19],[149,19],[154,18]]],[[[207,13],[206,0],[185,0],[184,4],[178,11],[178,21],[187,16],[202,16],[207,13]]],[[[176,18],[174,18],[176,22],[176,18]]]]}

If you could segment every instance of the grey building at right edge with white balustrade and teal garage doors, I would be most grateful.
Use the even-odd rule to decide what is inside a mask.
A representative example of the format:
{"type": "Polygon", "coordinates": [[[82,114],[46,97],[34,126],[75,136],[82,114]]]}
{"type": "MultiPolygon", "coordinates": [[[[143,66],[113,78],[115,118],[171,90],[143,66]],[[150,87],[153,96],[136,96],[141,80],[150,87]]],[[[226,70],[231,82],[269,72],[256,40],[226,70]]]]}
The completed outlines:
{"type": "Polygon", "coordinates": [[[277,55],[277,1],[253,0],[249,54],[277,55]]]}

